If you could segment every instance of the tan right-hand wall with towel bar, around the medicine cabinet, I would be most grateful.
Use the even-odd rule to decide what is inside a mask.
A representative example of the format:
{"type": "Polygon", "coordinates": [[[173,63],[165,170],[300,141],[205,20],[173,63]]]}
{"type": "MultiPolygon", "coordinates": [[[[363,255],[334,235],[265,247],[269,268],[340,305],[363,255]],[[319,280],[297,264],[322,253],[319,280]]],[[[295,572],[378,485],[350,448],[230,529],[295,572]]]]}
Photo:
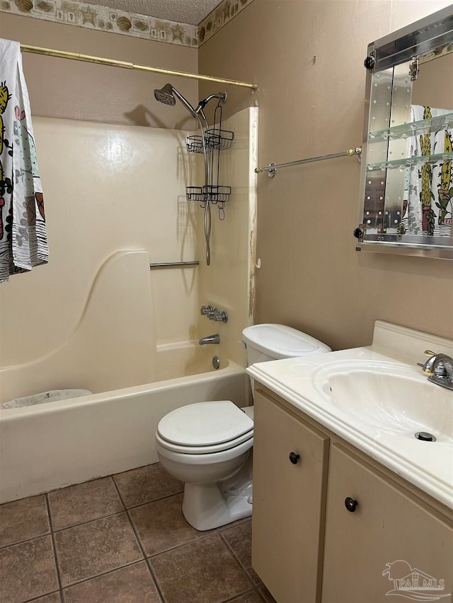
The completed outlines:
{"type": "MultiPolygon", "coordinates": [[[[200,73],[259,84],[229,89],[226,111],[258,101],[260,165],[343,151],[362,141],[368,43],[448,4],[255,0],[201,47],[200,73]]],[[[355,252],[359,182],[355,158],[258,177],[257,321],[334,349],[370,344],[377,318],[451,337],[452,262],[355,252]]]]}

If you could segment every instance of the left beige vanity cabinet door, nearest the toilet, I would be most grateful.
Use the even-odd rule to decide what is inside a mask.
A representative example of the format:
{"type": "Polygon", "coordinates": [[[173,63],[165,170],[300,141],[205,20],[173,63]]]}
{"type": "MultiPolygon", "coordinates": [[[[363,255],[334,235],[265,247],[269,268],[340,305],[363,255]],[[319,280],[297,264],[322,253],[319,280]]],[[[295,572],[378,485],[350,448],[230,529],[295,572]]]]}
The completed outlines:
{"type": "Polygon", "coordinates": [[[278,603],[314,603],[321,591],[328,438],[261,392],[253,438],[253,568],[278,603]]]}

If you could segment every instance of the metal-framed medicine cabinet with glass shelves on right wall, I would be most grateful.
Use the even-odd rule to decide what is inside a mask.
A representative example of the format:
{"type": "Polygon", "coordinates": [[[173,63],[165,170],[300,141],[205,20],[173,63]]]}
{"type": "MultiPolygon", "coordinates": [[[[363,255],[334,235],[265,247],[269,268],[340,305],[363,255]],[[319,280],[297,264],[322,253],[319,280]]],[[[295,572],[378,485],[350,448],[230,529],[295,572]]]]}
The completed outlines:
{"type": "Polygon", "coordinates": [[[357,251],[453,259],[453,5],[368,46],[357,251]]]}

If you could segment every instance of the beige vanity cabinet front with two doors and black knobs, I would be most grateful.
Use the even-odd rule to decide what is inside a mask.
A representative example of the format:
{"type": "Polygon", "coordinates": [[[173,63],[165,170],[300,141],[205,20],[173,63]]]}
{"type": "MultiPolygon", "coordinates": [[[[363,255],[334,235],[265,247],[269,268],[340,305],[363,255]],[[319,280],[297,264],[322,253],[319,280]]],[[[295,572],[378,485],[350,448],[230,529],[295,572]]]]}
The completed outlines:
{"type": "Polygon", "coordinates": [[[255,397],[252,522],[277,603],[453,600],[451,511],[269,390],[255,397]]]}

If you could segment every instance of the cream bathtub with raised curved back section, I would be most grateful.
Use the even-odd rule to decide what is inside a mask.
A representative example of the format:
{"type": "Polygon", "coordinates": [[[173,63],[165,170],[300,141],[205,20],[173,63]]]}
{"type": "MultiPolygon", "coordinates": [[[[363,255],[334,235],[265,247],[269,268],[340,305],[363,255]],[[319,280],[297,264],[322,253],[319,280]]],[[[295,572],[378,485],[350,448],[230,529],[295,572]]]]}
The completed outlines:
{"type": "Polygon", "coordinates": [[[96,392],[0,409],[0,503],[157,462],[157,424],[185,404],[248,405],[244,368],[224,360],[214,370],[211,358],[212,347],[197,342],[156,346],[148,254],[113,254],[67,339],[36,361],[0,370],[0,402],[46,390],[96,392]],[[112,317],[121,317],[121,328],[112,317]]]}

